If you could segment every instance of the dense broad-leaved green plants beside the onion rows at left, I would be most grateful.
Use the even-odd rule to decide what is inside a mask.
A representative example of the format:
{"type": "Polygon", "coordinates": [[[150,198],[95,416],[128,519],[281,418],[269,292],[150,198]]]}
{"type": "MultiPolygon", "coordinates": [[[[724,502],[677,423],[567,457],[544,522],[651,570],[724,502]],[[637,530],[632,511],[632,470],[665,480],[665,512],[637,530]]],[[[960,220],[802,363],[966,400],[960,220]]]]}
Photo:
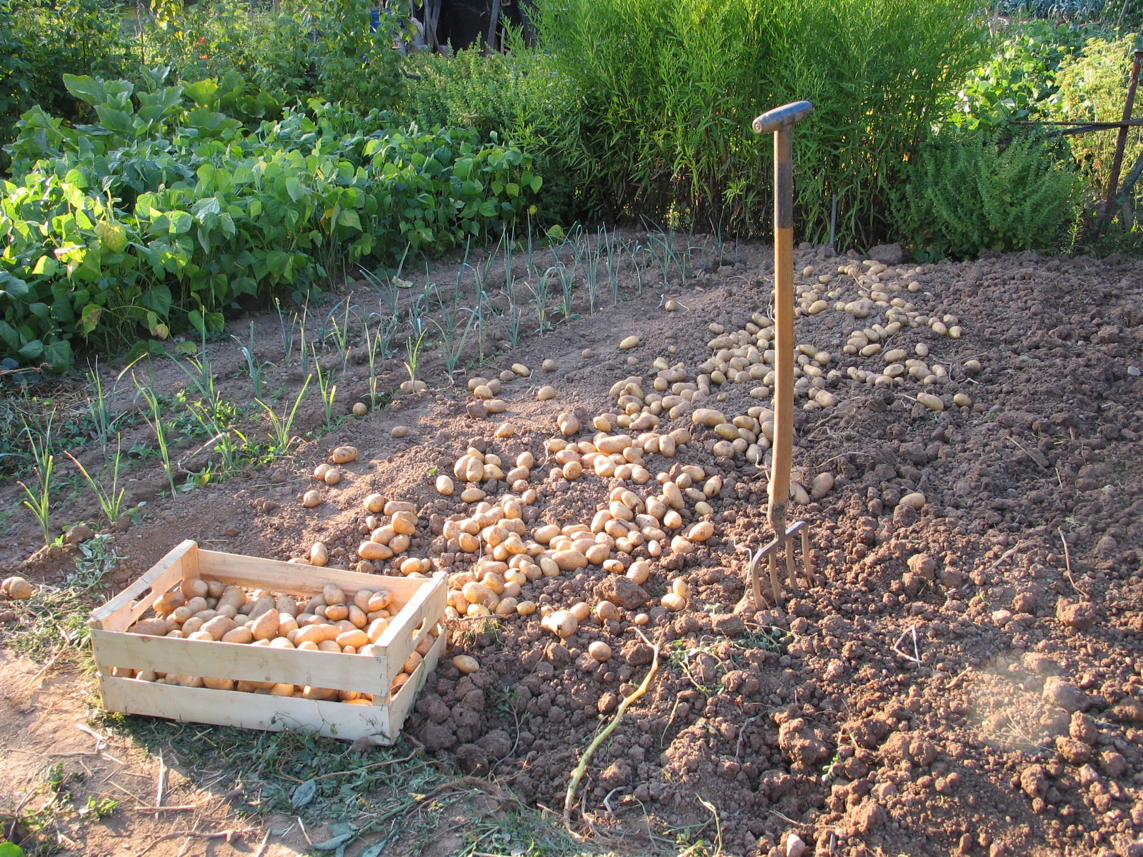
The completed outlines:
{"type": "Polygon", "coordinates": [[[250,133],[221,110],[250,97],[237,74],[162,78],[67,77],[96,122],[21,120],[0,182],[0,355],[61,369],[77,339],[217,331],[243,296],[298,296],[347,259],[498,235],[543,184],[474,131],[311,102],[250,133]]]}

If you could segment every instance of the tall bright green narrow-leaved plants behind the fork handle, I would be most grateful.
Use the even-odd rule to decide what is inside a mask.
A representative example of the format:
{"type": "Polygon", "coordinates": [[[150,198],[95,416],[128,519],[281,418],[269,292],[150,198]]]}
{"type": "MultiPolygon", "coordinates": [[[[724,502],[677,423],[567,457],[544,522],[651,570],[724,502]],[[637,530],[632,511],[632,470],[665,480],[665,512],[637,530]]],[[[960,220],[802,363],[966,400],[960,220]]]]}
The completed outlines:
{"type": "Polygon", "coordinates": [[[769,229],[759,113],[807,98],[794,131],[801,237],[886,230],[904,157],[983,56],[974,0],[536,0],[541,47],[582,94],[588,175],[610,216],[769,229]]]}

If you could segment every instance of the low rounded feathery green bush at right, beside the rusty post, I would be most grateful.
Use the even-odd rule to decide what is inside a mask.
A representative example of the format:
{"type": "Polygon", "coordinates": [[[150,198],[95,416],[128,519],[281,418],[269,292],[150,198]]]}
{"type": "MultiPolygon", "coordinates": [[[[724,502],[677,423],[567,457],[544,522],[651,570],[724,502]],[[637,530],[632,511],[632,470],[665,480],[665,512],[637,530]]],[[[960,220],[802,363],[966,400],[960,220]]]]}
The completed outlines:
{"type": "Polygon", "coordinates": [[[909,165],[894,215],[919,250],[964,258],[1056,248],[1079,206],[1078,176],[1045,143],[943,135],[909,165]]]}

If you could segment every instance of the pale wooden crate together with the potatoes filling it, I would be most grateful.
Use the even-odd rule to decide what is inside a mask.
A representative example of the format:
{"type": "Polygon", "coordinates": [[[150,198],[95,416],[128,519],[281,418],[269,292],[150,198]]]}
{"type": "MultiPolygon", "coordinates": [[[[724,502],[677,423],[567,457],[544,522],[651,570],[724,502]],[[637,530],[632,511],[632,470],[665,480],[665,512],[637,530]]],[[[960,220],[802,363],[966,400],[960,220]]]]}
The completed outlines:
{"type": "Polygon", "coordinates": [[[393,743],[437,665],[443,575],[379,577],[183,542],[91,614],[107,711],[393,743]]]}

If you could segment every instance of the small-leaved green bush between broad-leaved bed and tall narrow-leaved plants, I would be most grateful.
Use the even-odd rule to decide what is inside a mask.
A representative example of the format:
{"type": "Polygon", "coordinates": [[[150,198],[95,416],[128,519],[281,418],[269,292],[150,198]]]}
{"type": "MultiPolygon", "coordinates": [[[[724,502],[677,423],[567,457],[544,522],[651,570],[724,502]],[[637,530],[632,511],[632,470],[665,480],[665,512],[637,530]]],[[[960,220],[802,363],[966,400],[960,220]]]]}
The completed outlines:
{"type": "Polygon", "coordinates": [[[424,128],[472,128],[529,152],[545,177],[536,219],[572,223],[592,207],[594,190],[581,139],[582,99],[550,57],[512,47],[489,56],[477,49],[410,56],[414,79],[397,110],[424,128]]]}

